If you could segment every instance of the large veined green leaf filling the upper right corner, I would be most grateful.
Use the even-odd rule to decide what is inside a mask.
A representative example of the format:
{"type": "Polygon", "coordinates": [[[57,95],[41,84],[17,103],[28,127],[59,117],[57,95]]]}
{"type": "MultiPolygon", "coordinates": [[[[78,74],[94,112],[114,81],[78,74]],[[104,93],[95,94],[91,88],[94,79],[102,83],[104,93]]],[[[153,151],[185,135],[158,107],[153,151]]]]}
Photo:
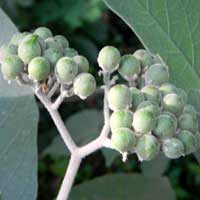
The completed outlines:
{"type": "Polygon", "coordinates": [[[169,66],[171,81],[200,111],[200,1],[104,0],[152,53],[169,66]]]}

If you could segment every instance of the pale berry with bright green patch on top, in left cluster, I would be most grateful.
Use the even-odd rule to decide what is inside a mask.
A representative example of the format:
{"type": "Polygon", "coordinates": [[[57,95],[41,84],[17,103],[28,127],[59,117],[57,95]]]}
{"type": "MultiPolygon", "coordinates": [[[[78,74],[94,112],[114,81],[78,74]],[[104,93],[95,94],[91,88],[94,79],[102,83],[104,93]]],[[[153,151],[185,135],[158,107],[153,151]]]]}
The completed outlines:
{"type": "Polygon", "coordinates": [[[33,58],[40,56],[41,52],[37,35],[29,34],[19,44],[18,56],[25,64],[28,64],[33,58]]]}

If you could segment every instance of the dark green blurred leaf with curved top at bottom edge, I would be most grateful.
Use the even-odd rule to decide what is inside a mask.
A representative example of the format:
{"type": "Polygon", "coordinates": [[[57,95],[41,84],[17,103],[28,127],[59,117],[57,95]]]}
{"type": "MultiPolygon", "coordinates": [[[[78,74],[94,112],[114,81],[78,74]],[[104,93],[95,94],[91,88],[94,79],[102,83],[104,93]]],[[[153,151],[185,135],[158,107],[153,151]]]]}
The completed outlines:
{"type": "Polygon", "coordinates": [[[175,200],[167,178],[140,174],[109,175],[77,185],[69,200],[175,200]],[[163,195],[164,194],[164,195],[163,195]]]}

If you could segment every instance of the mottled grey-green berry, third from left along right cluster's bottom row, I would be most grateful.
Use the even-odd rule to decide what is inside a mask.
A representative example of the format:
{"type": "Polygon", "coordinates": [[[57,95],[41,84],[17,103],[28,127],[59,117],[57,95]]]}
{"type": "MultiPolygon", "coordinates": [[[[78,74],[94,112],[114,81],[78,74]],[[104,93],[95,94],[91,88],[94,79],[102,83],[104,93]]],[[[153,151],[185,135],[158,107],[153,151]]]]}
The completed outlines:
{"type": "Polygon", "coordinates": [[[162,150],[167,158],[176,159],[184,156],[183,143],[177,138],[163,140],[162,150]]]}

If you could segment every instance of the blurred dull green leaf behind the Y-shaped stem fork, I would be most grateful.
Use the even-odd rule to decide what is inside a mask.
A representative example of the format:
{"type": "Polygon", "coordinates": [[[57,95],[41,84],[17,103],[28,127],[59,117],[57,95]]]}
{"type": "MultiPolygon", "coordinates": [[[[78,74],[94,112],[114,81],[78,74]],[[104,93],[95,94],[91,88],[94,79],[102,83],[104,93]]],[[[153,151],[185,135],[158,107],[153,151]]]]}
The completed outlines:
{"type": "MultiPolygon", "coordinates": [[[[66,121],[66,126],[74,141],[82,146],[98,137],[103,126],[103,116],[94,109],[83,110],[70,116],[66,121]]],[[[42,154],[56,157],[66,156],[69,152],[58,135],[42,154]]]]}

